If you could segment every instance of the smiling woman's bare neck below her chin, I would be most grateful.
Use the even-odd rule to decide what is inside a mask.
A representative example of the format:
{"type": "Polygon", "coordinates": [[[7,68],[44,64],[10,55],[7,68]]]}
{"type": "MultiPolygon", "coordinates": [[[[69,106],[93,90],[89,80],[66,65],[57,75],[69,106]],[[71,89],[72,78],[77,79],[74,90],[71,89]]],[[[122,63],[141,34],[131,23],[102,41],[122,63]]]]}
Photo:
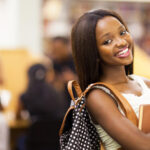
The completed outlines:
{"type": "Polygon", "coordinates": [[[127,83],[129,79],[126,75],[124,66],[105,66],[100,81],[116,85],[127,83]]]}

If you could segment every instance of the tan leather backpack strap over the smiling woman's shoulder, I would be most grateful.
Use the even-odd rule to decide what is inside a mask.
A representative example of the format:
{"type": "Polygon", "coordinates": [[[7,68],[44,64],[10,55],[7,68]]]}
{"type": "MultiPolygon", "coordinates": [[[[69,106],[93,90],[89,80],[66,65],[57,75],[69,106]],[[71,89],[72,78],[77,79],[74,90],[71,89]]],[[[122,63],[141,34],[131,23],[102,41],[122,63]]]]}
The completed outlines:
{"type": "Polygon", "coordinates": [[[123,97],[123,95],[121,95],[120,92],[117,89],[115,89],[112,85],[106,84],[103,82],[96,82],[96,83],[90,84],[88,86],[88,88],[82,93],[82,95],[85,96],[86,93],[95,85],[100,85],[100,86],[104,86],[104,87],[108,88],[110,90],[110,92],[115,96],[117,101],[119,102],[119,104],[120,104],[122,110],[124,111],[126,117],[130,121],[132,121],[132,123],[134,123],[136,126],[138,125],[138,119],[137,119],[137,116],[136,116],[133,108],[128,103],[128,101],[125,99],[125,97],[123,97]]]}

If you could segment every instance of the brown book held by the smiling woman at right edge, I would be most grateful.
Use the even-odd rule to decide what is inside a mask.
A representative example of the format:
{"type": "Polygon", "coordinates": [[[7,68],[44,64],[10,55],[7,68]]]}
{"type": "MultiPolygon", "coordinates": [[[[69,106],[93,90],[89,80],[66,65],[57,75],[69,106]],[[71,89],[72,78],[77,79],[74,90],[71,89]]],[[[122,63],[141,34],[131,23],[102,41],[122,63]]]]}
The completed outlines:
{"type": "Polygon", "coordinates": [[[140,105],[138,128],[144,133],[150,133],[150,104],[140,105]]]}

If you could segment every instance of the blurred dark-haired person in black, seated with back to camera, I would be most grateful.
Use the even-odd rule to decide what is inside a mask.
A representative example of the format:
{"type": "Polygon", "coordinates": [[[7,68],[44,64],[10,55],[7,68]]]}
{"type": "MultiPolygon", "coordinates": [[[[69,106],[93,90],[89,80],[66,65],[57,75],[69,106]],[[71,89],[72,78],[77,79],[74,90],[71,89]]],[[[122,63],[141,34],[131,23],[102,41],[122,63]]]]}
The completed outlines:
{"type": "Polygon", "coordinates": [[[26,150],[59,149],[63,100],[54,87],[46,82],[46,73],[42,64],[31,66],[27,90],[20,97],[17,118],[21,110],[27,110],[32,122],[25,139],[26,150]]]}

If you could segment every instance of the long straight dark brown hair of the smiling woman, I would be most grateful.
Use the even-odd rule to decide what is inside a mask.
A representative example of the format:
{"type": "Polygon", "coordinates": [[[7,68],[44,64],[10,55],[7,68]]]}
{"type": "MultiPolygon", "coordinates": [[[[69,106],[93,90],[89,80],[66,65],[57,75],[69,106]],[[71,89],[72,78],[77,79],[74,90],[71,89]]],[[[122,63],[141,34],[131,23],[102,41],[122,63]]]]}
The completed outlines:
{"type": "MultiPolygon", "coordinates": [[[[105,16],[117,18],[129,31],[127,25],[117,13],[102,9],[85,13],[72,28],[72,52],[82,90],[89,84],[99,81],[103,73],[98,61],[100,56],[96,43],[96,25],[105,16]]],[[[125,66],[125,71],[127,75],[133,73],[133,62],[125,66]]]]}

